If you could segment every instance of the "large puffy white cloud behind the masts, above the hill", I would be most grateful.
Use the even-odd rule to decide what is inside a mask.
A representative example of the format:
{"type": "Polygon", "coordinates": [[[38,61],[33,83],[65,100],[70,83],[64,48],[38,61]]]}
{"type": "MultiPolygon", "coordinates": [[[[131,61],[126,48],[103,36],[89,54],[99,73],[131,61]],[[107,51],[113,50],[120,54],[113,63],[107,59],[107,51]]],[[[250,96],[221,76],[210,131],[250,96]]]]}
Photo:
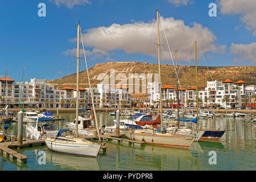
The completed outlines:
{"type": "MultiPolygon", "coordinates": [[[[192,26],[184,24],[183,20],[174,18],[163,19],[164,30],[167,34],[171,51],[179,49],[179,60],[191,61],[195,50],[195,40],[200,43],[201,51],[223,53],[225,45],[214,44],[216,36],[207,27],[193,23],[192,26]]],[[[160,30],[162,26],[160,25],[160,30]]],[[[75,41],[76,38],[73,40],[75,41]]],[[[107,56],[109,51],[122,49],[126,53],[143,53],[157,57],[156,20],[149,23],[133,22],[128,24],[112,24],[109,27],[90,28],[83,34],[86,47],[93,48],[89,55],[107,56]]],[[[162,60],[170,61],[166,39],[160,31],[160,44],[162,60]]]]}

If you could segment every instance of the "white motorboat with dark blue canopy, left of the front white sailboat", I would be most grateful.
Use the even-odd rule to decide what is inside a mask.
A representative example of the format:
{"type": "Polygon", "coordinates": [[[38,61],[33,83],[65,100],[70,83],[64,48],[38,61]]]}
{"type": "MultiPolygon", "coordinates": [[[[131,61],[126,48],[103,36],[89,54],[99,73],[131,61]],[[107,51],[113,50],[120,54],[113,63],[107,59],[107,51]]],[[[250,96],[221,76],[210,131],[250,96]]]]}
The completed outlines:
{"type": "Polygon", "coordinates": [[[56,137],[59,131],[55,129],[53,121],[50,118],[36,119],[36,123],[26,127],[27,138],[38,140],[44,137],[56,137]]]}

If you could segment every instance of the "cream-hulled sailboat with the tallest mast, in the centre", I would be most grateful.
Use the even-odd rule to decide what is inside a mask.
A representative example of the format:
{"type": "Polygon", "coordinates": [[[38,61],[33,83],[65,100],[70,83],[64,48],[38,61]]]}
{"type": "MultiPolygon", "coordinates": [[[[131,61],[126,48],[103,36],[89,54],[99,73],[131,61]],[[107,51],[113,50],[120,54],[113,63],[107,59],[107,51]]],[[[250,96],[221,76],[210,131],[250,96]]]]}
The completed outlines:
{"type": "Polygon", "coordinates": [[[129,139],[144,141],[148,144],[155,144],[159,146],[175,147],[175,148],[189,148],[194,142],[195,138],[170,134],[163,131],[162,121],[162,92],[161,92],[161,72],[160,72],[160,38],[159,38],[159,11],[156,10],[157,23],[158,23],[158,69],[159,69],[159,98],[160,98],[160,133],[159,130],[154,129],[142,129],[142,130],[129,130],[125,132],[125,136],[129,139]]]}

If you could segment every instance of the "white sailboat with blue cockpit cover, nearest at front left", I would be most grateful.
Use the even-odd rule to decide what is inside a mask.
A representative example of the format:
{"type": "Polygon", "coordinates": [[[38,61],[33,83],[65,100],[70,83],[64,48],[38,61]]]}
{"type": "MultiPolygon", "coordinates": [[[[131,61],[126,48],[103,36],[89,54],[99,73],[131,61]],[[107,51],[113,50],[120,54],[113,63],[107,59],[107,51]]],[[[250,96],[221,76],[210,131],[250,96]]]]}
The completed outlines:
{"type": "MultiPolygon", "coordinates": [[[[90,142],[78,136],[78,107],[79,107],[79,46],[80,46],[80,23],[77,25],[77,97],[76,97],[76,136],[69,129],[60,129],[56,137],[45,139],[46,145],[50,150],[64,154],[90,156],[96,158],[101,144],[90,142]]],[[[87,67],[87,66],[86,66],[87,67]]],[[[96,121],[97,123],[97,121],[96,121]]],[[[98,130],[97,130],[98,131],[98,130]]],[[[99,131],[98,131],[98,135],[99,131]]]]}

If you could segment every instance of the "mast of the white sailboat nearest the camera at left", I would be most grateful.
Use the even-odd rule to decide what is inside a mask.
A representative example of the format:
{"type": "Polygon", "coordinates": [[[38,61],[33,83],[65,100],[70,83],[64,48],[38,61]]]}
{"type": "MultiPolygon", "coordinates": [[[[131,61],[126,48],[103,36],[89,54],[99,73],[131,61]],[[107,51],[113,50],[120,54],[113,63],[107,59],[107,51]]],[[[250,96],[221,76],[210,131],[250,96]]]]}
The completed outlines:
{"type": "Polygon", "coordinates": [[[78,107],[79,107],[79,43],[80,24],[77,25],[77,68],[76,68],[76,138],[78,138],[78,107]]]}

